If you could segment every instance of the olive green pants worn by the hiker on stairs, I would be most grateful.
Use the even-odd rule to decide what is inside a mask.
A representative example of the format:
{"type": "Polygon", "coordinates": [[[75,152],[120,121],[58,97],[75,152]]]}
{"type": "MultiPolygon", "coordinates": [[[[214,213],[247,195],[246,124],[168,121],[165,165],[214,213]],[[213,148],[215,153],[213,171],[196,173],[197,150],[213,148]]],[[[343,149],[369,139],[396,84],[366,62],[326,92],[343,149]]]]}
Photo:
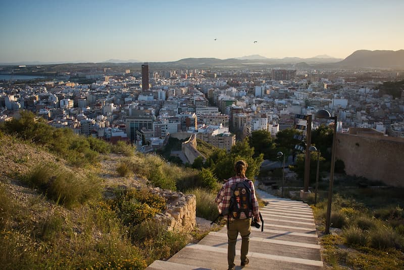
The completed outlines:
{"type": "Polygon", "coordinates": [[[249,235],[251,233],[251,218],[236,219],[229,221],[227,228],[227,261],[229,268],[234,267],[234,257],[236,256],[236,242],[238,233],[241,235],[241,261],[245,261],[248,254],[249,235]]]}

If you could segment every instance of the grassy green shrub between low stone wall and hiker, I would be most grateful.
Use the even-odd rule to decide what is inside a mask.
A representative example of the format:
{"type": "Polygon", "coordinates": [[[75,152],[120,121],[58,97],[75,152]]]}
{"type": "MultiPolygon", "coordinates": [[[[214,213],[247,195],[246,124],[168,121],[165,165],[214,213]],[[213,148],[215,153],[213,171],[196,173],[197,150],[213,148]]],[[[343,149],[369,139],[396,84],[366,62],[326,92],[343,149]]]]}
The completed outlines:
{"type": "Polygon", "coordinates": [[[196,216],[214,220],[219,212],[215,202],[216,194],[206,189],[195,188],[186,191],[187,194],[194,194],[196,197],[196,216]]]}

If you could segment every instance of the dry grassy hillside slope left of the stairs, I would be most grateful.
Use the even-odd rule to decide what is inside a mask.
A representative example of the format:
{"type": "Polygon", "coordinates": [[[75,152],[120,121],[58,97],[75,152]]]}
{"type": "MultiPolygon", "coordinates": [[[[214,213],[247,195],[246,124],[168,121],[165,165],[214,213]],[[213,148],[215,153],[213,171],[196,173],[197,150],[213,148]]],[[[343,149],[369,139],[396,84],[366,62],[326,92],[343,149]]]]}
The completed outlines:
{"type": "MultiPolygon", "coordinates": [[[[148,192],[145,169],[119,171],[122,164],[147,162],[162,161],[111,153],[73,166],[46,147],[0,132],[2,268],[144,269],[173,255],[192,241],[191,235],[165,232],[154,223],[140,226],[166,204],[148,192]],[[133,208],[144,200],[150,206],[133,208]]],[[[195,236],[205,233],[199,228],[195,236]]]]}

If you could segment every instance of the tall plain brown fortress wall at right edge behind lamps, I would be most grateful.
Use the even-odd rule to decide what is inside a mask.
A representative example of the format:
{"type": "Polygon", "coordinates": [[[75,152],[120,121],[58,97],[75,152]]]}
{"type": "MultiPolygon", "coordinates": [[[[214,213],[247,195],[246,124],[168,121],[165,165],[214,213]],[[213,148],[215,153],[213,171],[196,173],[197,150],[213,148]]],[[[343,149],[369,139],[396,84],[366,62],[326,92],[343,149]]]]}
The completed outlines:
{"type": "Polygon", "coordinates": [[[374,134],[337,133],[336,158],[345,164],[349,175],[364,176],[404,187],[404,140],[375,137],[374,134]]]}

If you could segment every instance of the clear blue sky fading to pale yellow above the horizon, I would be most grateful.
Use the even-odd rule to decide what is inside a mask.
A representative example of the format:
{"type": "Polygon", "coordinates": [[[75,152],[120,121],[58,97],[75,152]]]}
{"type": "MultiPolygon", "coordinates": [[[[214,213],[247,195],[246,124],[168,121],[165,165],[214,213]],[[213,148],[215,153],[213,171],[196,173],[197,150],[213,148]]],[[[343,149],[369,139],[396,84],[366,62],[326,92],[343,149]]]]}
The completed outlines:
{"type": "Polygon", "coordinates": [[[0,63],[345,58],[361,49],[404,49],[404,0],[0,0],[0,63]]]}

